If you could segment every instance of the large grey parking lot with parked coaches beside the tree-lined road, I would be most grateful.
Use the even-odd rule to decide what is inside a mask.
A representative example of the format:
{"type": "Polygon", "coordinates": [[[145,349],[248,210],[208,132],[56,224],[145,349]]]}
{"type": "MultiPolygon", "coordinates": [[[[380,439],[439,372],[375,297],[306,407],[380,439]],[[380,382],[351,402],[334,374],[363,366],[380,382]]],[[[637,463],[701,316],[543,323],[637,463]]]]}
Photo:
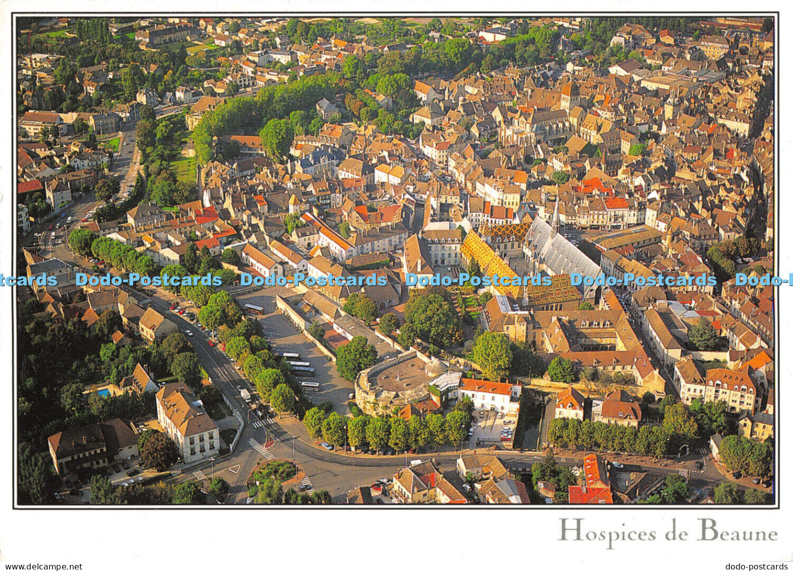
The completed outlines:
{"type": "Polygon", "coordinates": [[[297,331],[297,328],[275,308],[275,294],[293,295],[293,293],[284,287],[274,286],[240,296],[237,301],[240,305],[253,304],[264,308],[265,314],[258,320],[266,339],[273,346],[273,351],[298,353],[301,361],[311,363],[316,374],[314,377],[306,377],[305,381],[320,383],[320,391],[307,392],[305,396],[316,404],[330,400],[335,412],[341,415],[347,414],[347,401],[350,400],[350,393],[354,392],[353,385],[339,375],[330,358],[306,339],[305,335],[297,331]]]}

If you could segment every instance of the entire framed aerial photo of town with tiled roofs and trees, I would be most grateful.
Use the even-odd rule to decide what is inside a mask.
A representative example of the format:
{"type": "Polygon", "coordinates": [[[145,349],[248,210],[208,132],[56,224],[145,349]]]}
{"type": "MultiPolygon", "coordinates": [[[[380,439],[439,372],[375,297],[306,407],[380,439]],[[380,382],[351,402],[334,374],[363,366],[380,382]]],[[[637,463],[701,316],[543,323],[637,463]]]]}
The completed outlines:
{"type": "Polygon", "coordinates": [[[773,18],[15,25],[18,506],[776,503],[773,18]]]}

